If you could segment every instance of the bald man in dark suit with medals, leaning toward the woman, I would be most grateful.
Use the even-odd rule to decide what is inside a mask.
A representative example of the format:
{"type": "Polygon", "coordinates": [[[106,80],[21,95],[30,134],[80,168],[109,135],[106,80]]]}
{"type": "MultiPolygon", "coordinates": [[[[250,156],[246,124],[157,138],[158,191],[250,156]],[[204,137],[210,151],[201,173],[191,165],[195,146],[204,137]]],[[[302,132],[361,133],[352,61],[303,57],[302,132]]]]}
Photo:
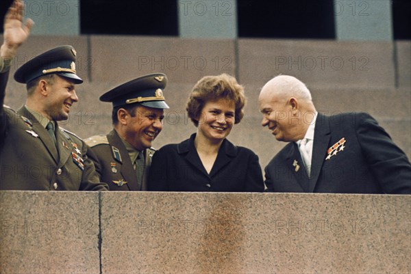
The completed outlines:
{"type": "Polygon", "coordinates": [[[258,100],[262,126],[288,142],[265,168],[267,191],[411,194],[410,161],[371,115],[322,115],[287,75],[267,82],[258,100]]]}

